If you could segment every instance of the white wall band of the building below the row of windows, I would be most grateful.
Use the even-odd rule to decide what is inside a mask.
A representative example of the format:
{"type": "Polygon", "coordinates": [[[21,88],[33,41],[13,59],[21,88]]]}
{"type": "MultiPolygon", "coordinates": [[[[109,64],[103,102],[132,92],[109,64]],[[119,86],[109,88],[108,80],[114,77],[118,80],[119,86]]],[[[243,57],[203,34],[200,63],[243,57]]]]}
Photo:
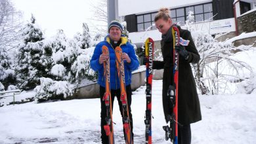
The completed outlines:
{"type": "MultiPolygon", "coordinates": [[[[182,26],[182,28],[184,27],[182,26]]],[[[214,35],[216,33],[236,31],[234,18],[215,20],[212,22],[201,22],[194,24],[194,28],[198,31],[206,31],[211,35],[214,35]]],[[[144,43],[144,41],[148,37],[151,37],[152,39],[154,39],[154,41],[160,41],[161,33],[158,31],[158,29],[129,33],[129,38],[131,39],[131,41],[139,47],[142,46],[142,43],[144,43]]]]}

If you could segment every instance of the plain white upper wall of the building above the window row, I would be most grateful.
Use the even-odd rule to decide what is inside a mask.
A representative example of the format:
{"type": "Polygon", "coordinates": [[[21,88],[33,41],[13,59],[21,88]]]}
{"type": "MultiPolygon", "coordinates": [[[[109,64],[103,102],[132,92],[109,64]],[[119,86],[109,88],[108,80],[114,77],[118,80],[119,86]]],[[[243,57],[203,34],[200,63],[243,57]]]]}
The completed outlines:
{"type": "Polygon", "coordinates": [[[158,11],[161,7],[170,9],[211,2],[212,0],[118,0],[118,15],[140,14],[158,11]]]}

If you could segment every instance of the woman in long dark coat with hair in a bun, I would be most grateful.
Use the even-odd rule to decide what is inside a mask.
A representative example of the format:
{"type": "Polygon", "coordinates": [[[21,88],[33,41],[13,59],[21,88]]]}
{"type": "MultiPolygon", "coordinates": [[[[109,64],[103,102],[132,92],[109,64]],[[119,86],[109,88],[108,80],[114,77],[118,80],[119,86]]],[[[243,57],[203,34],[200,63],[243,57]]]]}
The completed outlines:
{"type": "MultiPolygon", "coordinates": [[[[167,96],[167,90],[173,79],[173,35],[171,34],[172,20],[169,16],[169,9],[160,9],[155,16],[154,22],[158,30],[162,33],[161,52],[163,61],[154,61],[153,69],[163,69],[163,111],[165,120],[167,115],[172,113],[171,103],[167,96]]],[[[196,91],[196,83],[192,74],[190,63],[198,63],[200,55],[190,31],[179,27],[180,36],[184,40],[189,40],[188,46],[178,46],[175,50],[179,52],[179,101],[178,101],[178,121],[183,126],[178,126],[178,143],[191,143],[190,124],[202,119],[200,102],[196,91]]]]}

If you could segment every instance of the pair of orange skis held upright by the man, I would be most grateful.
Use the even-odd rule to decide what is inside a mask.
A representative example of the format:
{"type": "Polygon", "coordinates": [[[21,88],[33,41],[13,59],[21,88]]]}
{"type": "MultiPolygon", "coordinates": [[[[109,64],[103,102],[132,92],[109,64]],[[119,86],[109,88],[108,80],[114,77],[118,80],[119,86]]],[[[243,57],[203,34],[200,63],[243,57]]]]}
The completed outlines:
{"type": "MultiPolygon", "coordinates": [[[[109,54],[108,47],[102,46],[102,53],[109,54]]],[[[133,138],[131,135],[131,125],[129,120],[129,108],[127,104],[127,95],[126,95],[126,86],[125,86],[125,70],[123,65],[123,60],[121,60],[121,56],[123,54],[122,49],[117,46],[115,48],[116,53],[116,66],[117,73],[120,82],[120,100],[122,103],[122,113],[123,113],[123,128],[125,130],[125,142],[126,144],[133,144],[133,138]]],[[[105,81],[105,94],[103,100],[106,105],[106,125],[104,125],[104,130],[106,135],[108,136],[109,143],[114,144],[114,129],[113,129],[113,121],[112,121],[112,99],[111,99],[111,89],[110,89],[110,59],[104,62],[104,77],[105,81]]]]}

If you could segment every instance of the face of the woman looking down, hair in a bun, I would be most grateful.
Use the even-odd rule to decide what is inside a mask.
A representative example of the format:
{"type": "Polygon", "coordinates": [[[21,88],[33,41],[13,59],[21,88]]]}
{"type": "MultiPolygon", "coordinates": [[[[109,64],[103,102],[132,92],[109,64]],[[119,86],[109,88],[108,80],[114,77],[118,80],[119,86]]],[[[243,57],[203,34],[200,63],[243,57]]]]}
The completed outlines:
{"type": "Polygon", "coordinates": [[[160,18],[155,22],[155,24],[158,31],[160,31],[160,33],[165,35],[169,30],[169,28],[171,27],[172,22],[171,22],[171,18],[168,18],[168,20],[163,20],[163,18],[160,18]]]}

